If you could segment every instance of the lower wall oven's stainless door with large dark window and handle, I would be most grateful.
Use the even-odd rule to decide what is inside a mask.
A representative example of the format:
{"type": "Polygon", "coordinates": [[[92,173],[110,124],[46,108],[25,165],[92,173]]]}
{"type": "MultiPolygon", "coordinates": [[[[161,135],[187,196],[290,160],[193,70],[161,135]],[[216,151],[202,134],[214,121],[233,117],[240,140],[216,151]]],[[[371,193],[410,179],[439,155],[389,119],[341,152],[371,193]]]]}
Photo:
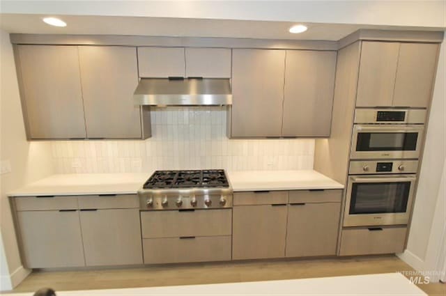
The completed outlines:
{"type": "Polygon", "coordinates": [[[350,176],[344,226],[407,224],[415,175],[350,176]]]}

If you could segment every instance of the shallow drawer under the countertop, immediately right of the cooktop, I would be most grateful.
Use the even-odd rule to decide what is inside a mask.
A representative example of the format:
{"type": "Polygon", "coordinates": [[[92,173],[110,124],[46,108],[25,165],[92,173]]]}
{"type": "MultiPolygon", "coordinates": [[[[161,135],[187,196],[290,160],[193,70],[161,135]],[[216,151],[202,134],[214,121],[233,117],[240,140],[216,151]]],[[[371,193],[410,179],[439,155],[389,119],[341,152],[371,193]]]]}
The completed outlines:
{"type": "Polygon", "coordinates": [[[236,192],[234,205],[269,205],[272,203],[288,203],[286,191],[236,192]]]}

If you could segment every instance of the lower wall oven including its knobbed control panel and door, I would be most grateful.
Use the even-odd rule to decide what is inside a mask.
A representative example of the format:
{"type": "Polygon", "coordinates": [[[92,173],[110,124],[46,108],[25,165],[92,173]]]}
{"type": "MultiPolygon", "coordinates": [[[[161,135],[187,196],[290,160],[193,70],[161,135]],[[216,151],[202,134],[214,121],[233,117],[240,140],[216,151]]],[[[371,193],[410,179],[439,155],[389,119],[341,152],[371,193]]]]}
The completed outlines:
{"type": "Polygon", "coordinates": [[[344,226],[407,224],[417,167],[417,160],[352,160],[344,226]]]}

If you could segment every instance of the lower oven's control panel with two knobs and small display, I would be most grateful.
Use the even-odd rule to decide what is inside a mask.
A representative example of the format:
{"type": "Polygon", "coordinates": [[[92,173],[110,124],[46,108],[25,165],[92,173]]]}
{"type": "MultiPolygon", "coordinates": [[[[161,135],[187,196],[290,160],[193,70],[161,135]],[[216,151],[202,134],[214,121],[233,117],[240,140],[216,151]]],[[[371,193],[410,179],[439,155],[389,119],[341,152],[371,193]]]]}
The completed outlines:
{"type": "Polygon", "coordinates": [[[417,173],[417,169],[417,160],[392,160],[388,162],[352,160],[348,168],[348,174],[417,173]]]}

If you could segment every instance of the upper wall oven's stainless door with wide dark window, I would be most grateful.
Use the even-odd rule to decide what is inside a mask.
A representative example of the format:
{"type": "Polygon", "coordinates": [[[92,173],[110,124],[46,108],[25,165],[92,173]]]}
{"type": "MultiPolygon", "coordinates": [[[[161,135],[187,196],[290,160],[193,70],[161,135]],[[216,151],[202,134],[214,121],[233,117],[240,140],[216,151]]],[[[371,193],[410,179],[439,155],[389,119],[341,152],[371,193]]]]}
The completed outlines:
{"type": "Polygon", "coordinates": [[[417,159],[423,130],[423,125],[355,125],[351,159],[417,159]]]}

